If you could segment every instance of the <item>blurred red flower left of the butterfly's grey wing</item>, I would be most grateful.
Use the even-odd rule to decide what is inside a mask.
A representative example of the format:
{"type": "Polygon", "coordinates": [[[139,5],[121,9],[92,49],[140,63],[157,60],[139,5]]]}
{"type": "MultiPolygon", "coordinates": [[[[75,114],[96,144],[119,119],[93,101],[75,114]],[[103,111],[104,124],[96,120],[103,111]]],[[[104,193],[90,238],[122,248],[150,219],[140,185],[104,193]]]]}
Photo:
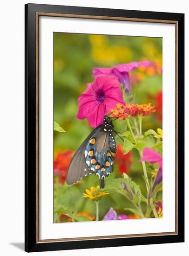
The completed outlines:
{"type": "Polygon", "coordinates": [[[63,184],[66,180],[66,172],[71,162],[74,151],[64,150],[54,160],[54,175],[58,175],[58,181],[63,184]]]}

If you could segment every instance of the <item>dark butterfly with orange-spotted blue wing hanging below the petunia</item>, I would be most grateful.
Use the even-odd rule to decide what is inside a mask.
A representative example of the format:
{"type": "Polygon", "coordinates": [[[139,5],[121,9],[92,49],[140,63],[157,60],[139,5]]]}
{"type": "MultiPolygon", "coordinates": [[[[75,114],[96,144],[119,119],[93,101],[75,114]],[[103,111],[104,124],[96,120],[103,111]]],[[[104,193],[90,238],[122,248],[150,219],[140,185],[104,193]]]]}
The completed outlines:
{"type": "Polygon", "coordinates": [[[73,156],[66,175],[68,184],[95,174],[99,177],[100,187],[104,188],[104,178],[113,172],[114,158],[111,152],[116,153],[113,132],[111,118],[104,116],[103,124],[88,135],[73,156]]]}

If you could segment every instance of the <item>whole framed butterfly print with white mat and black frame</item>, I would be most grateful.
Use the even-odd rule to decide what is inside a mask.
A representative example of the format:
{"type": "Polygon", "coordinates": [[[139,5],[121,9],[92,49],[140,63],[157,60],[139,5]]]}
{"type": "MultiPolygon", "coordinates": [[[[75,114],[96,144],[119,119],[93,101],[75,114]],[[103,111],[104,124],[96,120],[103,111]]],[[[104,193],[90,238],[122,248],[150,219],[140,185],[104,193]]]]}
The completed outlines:
{"type": "Polygon", "coordinates": [[[184,242],[184,14],[25,5],[25,250],[184,242]]]}

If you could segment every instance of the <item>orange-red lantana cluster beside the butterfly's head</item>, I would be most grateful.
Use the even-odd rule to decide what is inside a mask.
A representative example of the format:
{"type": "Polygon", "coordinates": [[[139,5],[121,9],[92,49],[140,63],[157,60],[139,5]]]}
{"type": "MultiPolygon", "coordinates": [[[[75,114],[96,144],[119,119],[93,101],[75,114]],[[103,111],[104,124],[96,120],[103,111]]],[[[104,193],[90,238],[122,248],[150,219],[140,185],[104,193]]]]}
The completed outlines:
{"type": "Polygon", "coordinates": [[[155,106],[151,106],[151,103],[148,104],[126,104],[123,105],[118,103],[116,108],[111,109],[112,118],[118,118],[119,120],[125,120],[127,117],[139,117],[139,116],[147,116],[150,113],[154,113],[156,111],[155,106]]]}

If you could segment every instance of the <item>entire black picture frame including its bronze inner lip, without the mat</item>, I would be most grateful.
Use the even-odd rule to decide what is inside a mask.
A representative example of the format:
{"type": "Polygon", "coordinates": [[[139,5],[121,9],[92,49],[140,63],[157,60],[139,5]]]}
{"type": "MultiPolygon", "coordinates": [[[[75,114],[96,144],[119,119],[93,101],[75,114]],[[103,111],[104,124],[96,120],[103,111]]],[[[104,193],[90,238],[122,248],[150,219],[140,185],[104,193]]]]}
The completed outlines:
{"type": "Polygon", "coordinates": [[[25,251],[47,251],[184,242],[184,14],[25,5],[25,251]],[[39,239],[39,17],[121,20],[175,25],[176,207],[174,232],[39,239]],[[179,170],[178,170],[179,168],[179,170]]]}

